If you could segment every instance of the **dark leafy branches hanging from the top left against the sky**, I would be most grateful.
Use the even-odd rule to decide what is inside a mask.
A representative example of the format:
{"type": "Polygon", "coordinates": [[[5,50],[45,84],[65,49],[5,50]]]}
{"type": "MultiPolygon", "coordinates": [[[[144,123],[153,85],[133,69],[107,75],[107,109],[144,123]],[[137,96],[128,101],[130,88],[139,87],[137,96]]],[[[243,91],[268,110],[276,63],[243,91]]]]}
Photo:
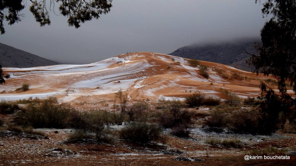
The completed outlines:
{"type": "MultiPolygon", "coordinates": [[[[34,15],[40,26],[50,25],[49,11],[55,10],[59,5],[59,12],[68,17],[68,25],[79,28],[81,23],[90,21],[92,18],[99,19],[100,15],[110,12],[112,0],[30,0],[32,5],[30,12],[34,15]]],[[[0,32],[5,33],[3,27],[4,18],[9,25],[21,21],[20,13],[25,8],[24,0],[0,0],[0,32]]]]}

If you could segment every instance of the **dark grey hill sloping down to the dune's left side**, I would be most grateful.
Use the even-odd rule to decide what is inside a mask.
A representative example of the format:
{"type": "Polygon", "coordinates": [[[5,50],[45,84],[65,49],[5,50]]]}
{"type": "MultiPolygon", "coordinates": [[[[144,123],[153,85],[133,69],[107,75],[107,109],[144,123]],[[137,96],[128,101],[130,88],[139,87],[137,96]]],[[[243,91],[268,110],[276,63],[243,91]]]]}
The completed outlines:
{"type": "Polygon", "coordinates": [[[27,68],[58,65],[59,63],[0,43],[0,64],[2,67],[27,68]]]}

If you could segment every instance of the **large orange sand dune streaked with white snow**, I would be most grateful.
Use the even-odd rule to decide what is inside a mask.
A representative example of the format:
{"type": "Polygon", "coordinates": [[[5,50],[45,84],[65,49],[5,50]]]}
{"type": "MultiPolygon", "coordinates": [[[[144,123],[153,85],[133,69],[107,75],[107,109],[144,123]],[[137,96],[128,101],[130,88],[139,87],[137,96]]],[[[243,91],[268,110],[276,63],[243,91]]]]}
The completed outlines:
{"type": "Polygon", "coordinates": [[[248,97],[258,95],[259,79],[266,79],[218,63],[200,64],[208,66],[209,77],[201,74],[200,67],[189,66],[184,58],[149,52],[119,55],[87,65],[4,68],[11,78],[0,86],[0,99],[54,95],[67,102],[79,101],[81,97],[108,100],[120,89],[126,91],[130,100],[182,99],[195,91],[224,98],[221,88],[248,97]],[[216,69],[229,76],[236,72],[240,79],[222,77],[216,69]],[[25,83],[30,85],[28,91],[15,91],[25,83]]]}

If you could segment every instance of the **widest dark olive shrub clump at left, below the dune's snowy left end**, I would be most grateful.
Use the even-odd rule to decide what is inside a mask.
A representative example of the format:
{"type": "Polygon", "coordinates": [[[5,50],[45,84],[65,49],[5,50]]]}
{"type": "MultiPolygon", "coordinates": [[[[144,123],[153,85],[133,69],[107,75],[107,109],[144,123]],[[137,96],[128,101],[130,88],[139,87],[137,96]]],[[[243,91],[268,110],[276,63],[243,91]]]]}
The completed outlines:
{"type": "Polygon", "coordinates": [[[27,109],[19,111],[14,121],[18,125],[33,128],[65,128],[70,120],[72,108],[57,104],[56,98],[48,98],[39,105],[31,104],[27,109]]]}

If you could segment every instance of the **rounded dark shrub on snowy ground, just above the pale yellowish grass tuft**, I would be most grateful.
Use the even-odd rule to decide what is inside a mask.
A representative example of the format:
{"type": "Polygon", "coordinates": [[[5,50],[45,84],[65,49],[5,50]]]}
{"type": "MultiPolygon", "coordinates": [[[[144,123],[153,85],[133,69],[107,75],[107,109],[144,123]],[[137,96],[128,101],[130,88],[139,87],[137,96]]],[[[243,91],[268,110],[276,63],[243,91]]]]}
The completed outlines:
{"type": "Polygon", "coordinates": [[[210,115],[204,121],[204,124],[210,128],[223,128],[227,123],[227,115],[219,110],[210,111],[210,115]]]}

